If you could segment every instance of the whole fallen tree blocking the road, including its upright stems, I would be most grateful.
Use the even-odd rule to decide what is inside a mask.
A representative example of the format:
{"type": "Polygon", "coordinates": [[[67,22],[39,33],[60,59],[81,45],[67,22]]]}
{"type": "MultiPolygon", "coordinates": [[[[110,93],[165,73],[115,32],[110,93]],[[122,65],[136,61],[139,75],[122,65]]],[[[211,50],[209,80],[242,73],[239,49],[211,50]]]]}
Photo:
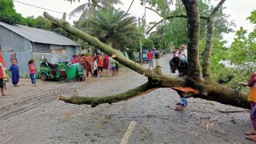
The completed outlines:
{"type": "MultiPolygon", "coordinates": [[[[214,10],[207,17],[208,19],[214,17],[214,14],[218,11],[219,7],[222,6],[222,3],[225,0],[221,0],[218,5],[214,8],[214,10]]],[[[143,68],[142,66],[130,61],[130,59],[125,58],[122,54],[119,54],[118,51],[113,50],[110,46],[103,44],[98,41],[97,38],[93,38],[86,33],[82,33],[80,30],[73,28],[70,25],[67,25],[66,22],[61,22],[56,18],[51,17],[49,14],[44,13],[46,18],[49,18],[51,22],[54,24],[61,26],[68,32],[77,35],[80,38],[85,39],[90,42],[94,46],[98,46],[106,54],[116,55],[115,59],[122,63],[122,65],[129,67],[131,70],[138,72],[138,74],[142,74],[148,78],[148,82],[143,84],[142,86],[138,86],[133,90],[129,90],[123,94],[110,95],[106,97],[78,97],[78,96],[66,96],[61,95],[59,99],[70,102],[74,104],[89,104],[91,106],[98,106],[101,103],[112,103],[112,102],[120,102],[127,100],[129,98],[134,98],[135,96],[148,93],[152,90],[155,90],[159,87],[174,87],[174,86],[190,86],[194,89],[198,89],[201,92],[201,95],[198,95],[200,98],[209,99],[217,102],[221,102],[223,104],[229,104],[232,106],[240,106],[244,108],[250,108],[250,102],[246,100],[246,94],[238,92],[237,90],[232,90],[228,87],[219,85],[216,82],[213,82],[209,75],[207,75],[207,71],[201,71],[199,69],[200,60],[199,60],[199,30],[200,30],[200,18],[198,11],[198,1],[197,0],[182,0],[186,8],[186,17],[188,22],[188,65],[189,71],[188,75],[185,79],[171,77],[165,74],[162,74],[161,67],[156,66],[154,70],[149,70],[143,68]],[[202,74],[203,73],[203,74],[202,74]]],[[[209,22],[207,27],[207,33],[211,36],[214,35],[214,31],[211,26],[214,26],[214,21],[209,22]]],[[[212,37],[207,37],[206,48],[205,50],[212,49],[212,37]]],[[[203,57],[208,56],[208,54],[204,54],[203,57]]],[[[207,62],[210,62],[207,58],[202,58],[207,62]]],[[[203,65],[208,69],[210,65],[203,65]]]]}

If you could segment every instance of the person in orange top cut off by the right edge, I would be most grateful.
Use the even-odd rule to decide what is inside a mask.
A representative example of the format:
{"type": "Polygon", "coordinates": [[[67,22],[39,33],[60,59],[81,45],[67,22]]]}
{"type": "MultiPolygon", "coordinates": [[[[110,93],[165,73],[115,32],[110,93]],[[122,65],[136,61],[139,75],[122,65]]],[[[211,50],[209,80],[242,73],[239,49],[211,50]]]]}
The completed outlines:
{"type": "Polygon", "coordinates": [[[246,132],[246,138],[256,142],[256,74],[251,74],[247,83],[250,87],[247,100],[250,101],[250,121],[254,130],[246,132]]]}

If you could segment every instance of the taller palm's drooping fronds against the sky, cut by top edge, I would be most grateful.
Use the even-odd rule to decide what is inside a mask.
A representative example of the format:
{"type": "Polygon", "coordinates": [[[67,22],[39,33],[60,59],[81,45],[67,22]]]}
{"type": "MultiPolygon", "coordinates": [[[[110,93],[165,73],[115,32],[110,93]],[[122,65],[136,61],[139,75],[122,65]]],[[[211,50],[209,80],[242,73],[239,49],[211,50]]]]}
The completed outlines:
{"type": "MultiPolygon", "coordinates": [[[[75,2],[75,0],[67,0],[68,2],[75,2]]],[[[78,0],[80,2],[80,0],[78,0]]],[[[113,6],[114,4],[122,4],[119,0],[88,0],[88,2],[78,6],[70,12],[70,16],[82,12],[80,19],[90,18],[94,14],[94,10],[105,8],[106,6],[113,6]]]]}

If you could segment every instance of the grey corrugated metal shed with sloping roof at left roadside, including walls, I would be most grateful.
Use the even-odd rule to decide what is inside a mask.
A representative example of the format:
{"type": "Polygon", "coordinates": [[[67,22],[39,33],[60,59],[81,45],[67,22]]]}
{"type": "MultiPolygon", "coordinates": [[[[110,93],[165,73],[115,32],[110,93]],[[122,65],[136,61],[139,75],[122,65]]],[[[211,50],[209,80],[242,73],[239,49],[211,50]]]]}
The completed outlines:
{"type": "Polygon", "coordinates": [[[0,22],[0,51],[8,67],[10,54],[16,53],[21,75],[28,74],[27,63],[30,59],[34,59],[36,66],[39,66],[42,54],[58,54],[70,62],[80,47],[77,42],[52,31],[0,22]]]}

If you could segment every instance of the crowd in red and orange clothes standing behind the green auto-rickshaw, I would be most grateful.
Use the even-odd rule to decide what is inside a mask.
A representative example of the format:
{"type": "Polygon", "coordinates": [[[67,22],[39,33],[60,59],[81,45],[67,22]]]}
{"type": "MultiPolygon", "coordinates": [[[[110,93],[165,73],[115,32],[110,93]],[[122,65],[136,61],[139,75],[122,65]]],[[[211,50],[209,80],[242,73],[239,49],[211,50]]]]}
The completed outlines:
{"type": "Polygon", "coordinates": [[[118,75],[118,62],[114,60],[114,55],[111,57],[108,54],[93,53],[90,54],[88,50],[86,54],[74,54],[72,63],[79,63],[83,70],[86,70],[86,77],[91,74],[92,77],[103,77],[103,69],[106,69],[106,73],[118,75]]]}

